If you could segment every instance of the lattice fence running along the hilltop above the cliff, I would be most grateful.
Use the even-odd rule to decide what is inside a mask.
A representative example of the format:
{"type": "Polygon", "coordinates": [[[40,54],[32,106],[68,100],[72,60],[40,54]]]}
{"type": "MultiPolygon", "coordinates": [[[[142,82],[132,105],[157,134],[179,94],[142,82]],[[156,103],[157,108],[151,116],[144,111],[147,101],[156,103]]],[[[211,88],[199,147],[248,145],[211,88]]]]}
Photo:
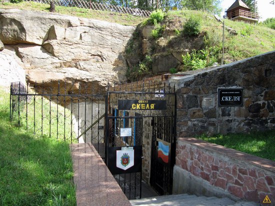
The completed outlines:
{"type": "MultiPolygon", "coordinates": [[[[50,4],[50,0],[31,0],[38,3],[50,4]]],[[[118,13],[127,13],[135,16],[149,17],[151,11],[139,8],[122,7],[105,3],[91,2],[87,0],[53,0],[55,5],[67,7],[88,8],[93,10],[103,10],[118,13]]]]}

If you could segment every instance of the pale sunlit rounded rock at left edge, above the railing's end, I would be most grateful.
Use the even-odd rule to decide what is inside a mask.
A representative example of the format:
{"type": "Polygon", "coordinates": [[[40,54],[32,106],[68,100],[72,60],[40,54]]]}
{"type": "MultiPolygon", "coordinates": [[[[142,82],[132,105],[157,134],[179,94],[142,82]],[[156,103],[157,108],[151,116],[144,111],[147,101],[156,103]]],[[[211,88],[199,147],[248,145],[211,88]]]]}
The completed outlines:
{"type": "Polygon", "coordinates": [[[25,82],[25,71],[10,55],[0,52],[0,85],[8,87],[10,82],[25,82]]]}

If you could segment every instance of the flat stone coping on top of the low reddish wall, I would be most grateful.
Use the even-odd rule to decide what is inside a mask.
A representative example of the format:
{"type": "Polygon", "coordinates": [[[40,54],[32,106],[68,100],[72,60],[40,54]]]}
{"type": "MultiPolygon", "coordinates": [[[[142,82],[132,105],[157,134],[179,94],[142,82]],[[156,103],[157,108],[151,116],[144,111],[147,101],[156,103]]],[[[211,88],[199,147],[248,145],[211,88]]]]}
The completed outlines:
{"type": "Polygon", "coordinates": [[[261,158],[258,156],[254,156],[251,154],[247,154],[245,152],[241,152],[235,149],[226,148],[224,146],[213,144],[207,141],[203,141],[200,139],[192,138],[192,137],[180,137],[178,138],[178,143],[180,141],[186,141],[190,144],[199,146],[201,148],[205,148],[207,150],[211,150],[217,153],[220,153],[222,155],[226,155],[229,157],[232,157],[234,159],[239,159],[242,161],[245,161],[246,163],[251,163],[255,166],[261,167],[263,169],[269,170],[271,172],[275,172],[275,161],[271,161],[269,159],[261,158]]]}

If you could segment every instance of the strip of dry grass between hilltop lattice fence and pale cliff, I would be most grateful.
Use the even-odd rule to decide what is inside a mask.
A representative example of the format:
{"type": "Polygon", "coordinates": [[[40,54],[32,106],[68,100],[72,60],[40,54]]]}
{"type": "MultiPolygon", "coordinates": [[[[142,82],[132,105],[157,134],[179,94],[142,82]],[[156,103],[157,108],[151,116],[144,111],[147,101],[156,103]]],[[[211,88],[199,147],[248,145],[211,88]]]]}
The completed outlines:
{"type": "MultiPolygon", "coordinates": [[[[1,2],[0,8],[17,8],[24,10],[37,10],[49,12],[49,4],[36,3],[33,1],[23,1],[20,3],[10,3],[1,2]]],[[[55,6],[55,13],[83,17],[83,18],[93,18],[98,20],[105,20],[108,22],[119,23],[122,25],[137,25],[147,18],[133,16],[124,13],[116,13],[110,11],[99,11],[78,7],[65,7],[65,6],[55,6]]]]}

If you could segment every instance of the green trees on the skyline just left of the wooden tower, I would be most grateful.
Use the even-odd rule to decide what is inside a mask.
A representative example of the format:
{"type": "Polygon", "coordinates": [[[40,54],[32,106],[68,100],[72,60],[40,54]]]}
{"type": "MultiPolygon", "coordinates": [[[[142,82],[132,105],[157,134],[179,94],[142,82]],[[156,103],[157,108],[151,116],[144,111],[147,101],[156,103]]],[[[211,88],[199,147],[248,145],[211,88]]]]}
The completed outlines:
{"type": "Polygon", "coordinates": [[[220,0],[182,0],[181,4],[191,10],[205,10],[215,14],[221,11],[220,0]]]}

